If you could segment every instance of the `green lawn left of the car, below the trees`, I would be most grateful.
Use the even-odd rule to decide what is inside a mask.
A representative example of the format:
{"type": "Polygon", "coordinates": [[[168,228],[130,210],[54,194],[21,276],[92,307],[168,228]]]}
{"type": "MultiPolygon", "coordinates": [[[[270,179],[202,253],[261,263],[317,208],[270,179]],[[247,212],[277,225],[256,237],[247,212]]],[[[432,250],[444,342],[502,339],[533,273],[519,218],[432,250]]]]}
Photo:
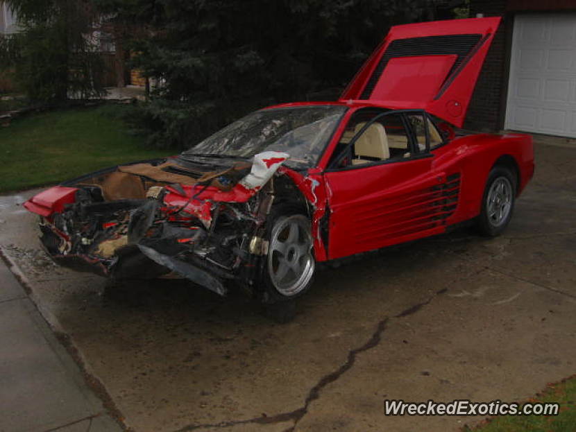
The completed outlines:
{"type": "Polygon", "coordinates": [[[166,156],[130,135],[123,105],[44,112],[0,128],[0,192],[54,184],[107,166],[166,156]]]}

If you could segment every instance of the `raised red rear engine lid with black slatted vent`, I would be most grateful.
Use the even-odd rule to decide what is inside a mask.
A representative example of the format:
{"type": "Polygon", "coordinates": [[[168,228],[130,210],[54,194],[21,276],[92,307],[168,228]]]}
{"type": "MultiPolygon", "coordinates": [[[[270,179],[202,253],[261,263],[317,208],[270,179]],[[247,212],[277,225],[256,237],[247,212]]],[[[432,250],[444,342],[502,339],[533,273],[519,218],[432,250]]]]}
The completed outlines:
{"type": "Polygon", "coordinates": [[[394,26],[341,101],[418,108],[461,127],[500,17],[394,26]]]}

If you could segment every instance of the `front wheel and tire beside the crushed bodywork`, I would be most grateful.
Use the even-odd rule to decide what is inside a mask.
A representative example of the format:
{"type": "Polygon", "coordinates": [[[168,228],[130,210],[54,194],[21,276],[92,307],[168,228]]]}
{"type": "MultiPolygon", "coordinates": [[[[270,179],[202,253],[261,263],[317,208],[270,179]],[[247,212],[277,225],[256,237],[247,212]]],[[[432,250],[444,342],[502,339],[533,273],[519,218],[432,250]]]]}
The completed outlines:
{"type": "Polygon", "coordinates": [[[316,261],[310,219],[295,207],[278,205],[268,220],[269,246],[261,277],[263,301],[269,305],[292,302],[314,282],[316,261]]]}

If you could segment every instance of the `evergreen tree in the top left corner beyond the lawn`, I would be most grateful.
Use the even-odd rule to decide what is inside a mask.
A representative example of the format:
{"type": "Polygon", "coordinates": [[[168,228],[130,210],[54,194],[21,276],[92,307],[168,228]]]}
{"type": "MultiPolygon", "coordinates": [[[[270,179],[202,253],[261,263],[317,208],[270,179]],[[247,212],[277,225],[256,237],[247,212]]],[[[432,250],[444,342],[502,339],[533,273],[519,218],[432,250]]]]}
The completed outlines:
{"type": "Polygon", "coordinates": [[[5,0],[20,31],[0,38],[9,68],[33,101],[102,96],[104,66],[94,33],[99,15],[87,0],[5,0]]]}

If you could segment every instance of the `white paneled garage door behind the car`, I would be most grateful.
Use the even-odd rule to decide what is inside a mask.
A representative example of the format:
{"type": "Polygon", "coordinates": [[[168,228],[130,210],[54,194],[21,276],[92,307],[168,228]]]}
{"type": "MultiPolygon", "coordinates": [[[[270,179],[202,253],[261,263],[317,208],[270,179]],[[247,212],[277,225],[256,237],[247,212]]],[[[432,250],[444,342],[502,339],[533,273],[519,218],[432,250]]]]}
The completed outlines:
{"type": "Polygon", "coordinates": [[[576,14],[514,19],[505,128],[576,138],[576,14]]]}

